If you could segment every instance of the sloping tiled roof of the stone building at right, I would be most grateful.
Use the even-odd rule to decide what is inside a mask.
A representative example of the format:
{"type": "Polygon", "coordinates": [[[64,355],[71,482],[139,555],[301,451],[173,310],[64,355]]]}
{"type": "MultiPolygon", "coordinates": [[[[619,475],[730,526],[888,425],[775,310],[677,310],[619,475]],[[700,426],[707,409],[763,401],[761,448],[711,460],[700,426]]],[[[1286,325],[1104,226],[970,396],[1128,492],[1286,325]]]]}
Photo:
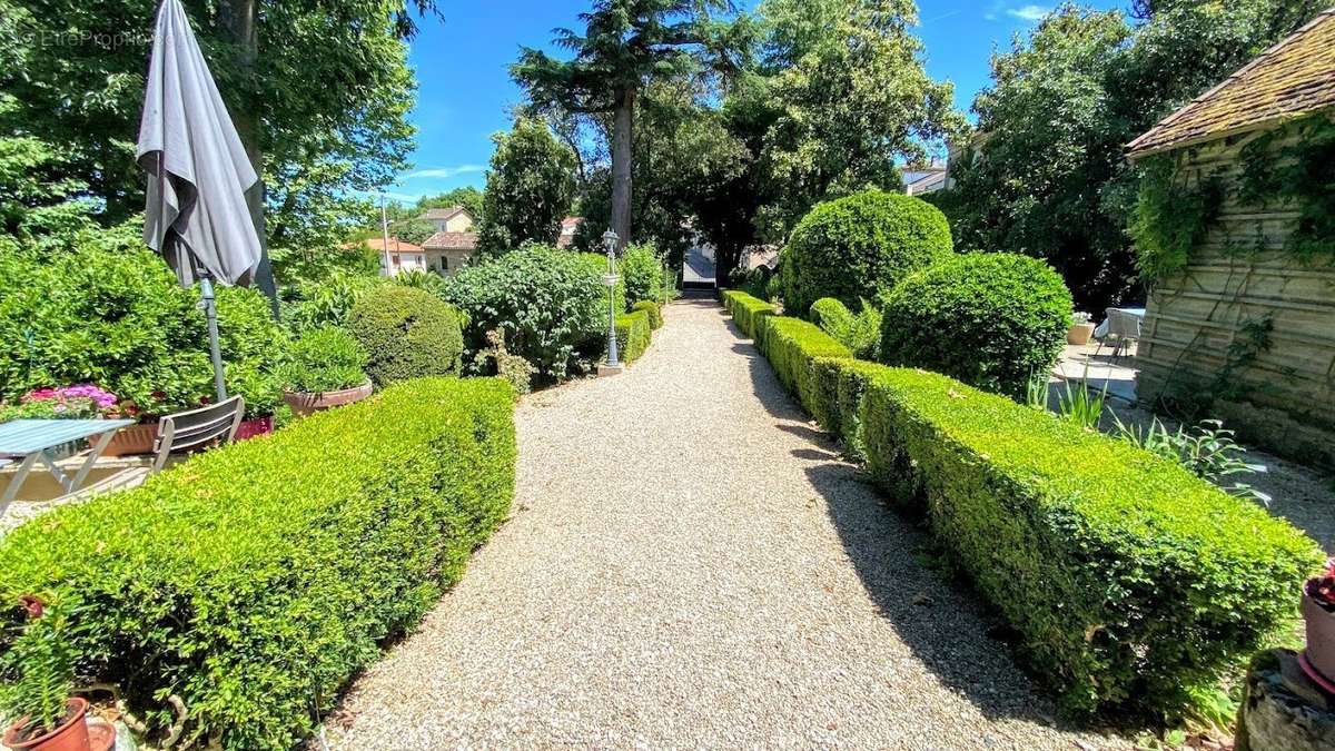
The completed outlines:
{"type": "Polygon", "coordinates": [[[1132,158],[1215,140],[1335,106],[1335,8],[1164,118],[1132,158]]]}

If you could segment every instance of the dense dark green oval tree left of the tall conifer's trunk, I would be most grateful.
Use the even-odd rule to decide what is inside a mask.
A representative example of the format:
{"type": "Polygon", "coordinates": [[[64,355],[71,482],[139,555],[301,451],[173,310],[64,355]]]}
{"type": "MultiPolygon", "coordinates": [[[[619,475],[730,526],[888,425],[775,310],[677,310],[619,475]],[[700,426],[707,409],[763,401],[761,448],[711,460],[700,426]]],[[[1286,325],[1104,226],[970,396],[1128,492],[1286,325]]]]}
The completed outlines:
{"type": "Polygon", "coordinates": [[[493,140],[497,150],[482,196],[478,249],[503,253],[526,242],[554,245],[574,199],[574,155],[545,123],[530,118],[493,140]]]}

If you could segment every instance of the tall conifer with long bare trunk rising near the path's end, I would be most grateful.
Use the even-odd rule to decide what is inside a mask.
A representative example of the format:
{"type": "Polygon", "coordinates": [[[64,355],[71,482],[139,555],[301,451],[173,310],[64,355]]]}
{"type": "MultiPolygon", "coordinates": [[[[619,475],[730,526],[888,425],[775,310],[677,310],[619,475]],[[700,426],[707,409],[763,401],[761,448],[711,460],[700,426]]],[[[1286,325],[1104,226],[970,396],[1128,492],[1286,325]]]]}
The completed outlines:
{"type": "Polygon", "coordinates": [[[637,100],[653,80],[730,67],[746,24],[724,25],[712,17],[728,11],[728,0],[595,0],[593,11],[579,16],[583,35],[557,31],[557,44],[574,59],[523,48],[511,68],[538,110],[611,115],[611,229],[623,243],[631,238],[637,100]]]}

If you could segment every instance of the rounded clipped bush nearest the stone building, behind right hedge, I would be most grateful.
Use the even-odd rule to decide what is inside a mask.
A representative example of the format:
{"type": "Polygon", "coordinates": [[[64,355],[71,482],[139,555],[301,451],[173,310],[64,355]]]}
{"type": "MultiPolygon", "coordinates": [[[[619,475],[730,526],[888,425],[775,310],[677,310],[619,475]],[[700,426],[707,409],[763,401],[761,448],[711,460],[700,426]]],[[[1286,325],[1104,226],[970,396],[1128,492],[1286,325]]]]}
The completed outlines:
{"type": "Polygon", "coordinates": [[[1061,353],[1071,290],[1036,258],[960,255],[904,279],[882,315],[881,361],[1019,398],[1061,353]]]}

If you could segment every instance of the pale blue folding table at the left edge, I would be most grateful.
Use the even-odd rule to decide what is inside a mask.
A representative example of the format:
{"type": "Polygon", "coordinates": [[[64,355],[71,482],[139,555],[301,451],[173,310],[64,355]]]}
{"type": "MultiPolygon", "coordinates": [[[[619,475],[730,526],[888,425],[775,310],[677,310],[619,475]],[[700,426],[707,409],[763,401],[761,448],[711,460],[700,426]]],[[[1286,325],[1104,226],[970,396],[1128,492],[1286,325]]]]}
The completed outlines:
{"type": "Polygon", "coordinates": [[[97,462],[101,452],[107,450],[111,438],[117,430],[127,425],[134,425],[134,420],[13,420],[0,424],[0,460],[19,461],[19,470],[9,478],[4,494],[0,494],[0,513],[19,494],[24,480],[37,461],[44,462],[51,473],[60,481],[65,493],[73,493],[83,488],[84,478],[92,465],[97,462]],[[52,450],[71,441],[88,440],[91,450],[79,472],[73,477],[67,474],[56,464],[52,450]]]}

